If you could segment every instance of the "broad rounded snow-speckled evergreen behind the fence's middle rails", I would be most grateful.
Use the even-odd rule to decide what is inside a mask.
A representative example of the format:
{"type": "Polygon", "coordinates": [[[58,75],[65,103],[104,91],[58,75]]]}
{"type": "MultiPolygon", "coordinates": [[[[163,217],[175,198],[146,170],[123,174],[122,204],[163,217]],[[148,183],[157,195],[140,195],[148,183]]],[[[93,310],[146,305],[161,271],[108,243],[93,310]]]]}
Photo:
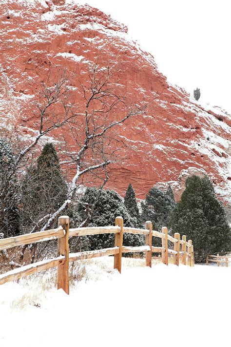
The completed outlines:
{"type": "MultiPolygon", "coordinates": [[[[82,197],[80,204],[76,208],[74,224],[78,225],[86,218],[86,204],[89,204],[91,208],[96,195],[98,193],[97,188],[87,188],[84,196],[82,197]]],[[[135,227],[137,221],[131,217],[127,211],[122,198],[114,190],[102,190],[94,209],[94,216],[89,226],[108,226],[115,225],[115,219],[117,216],[122,216],[124,220],[124,226],[135,227]]],[[[73,221],[72,221],[73,223],[73,221]]],[[[91,235],[87,237],[88,249],[100,249],[113,247],[115,244],[114,234],[100,234],[91,235]]],[[[86,244],[86,240],[84,240],[86,244]]],[[[127,234],[123,235],[123,245],[127,246],[139,246],[143,245],[142,235],[127,234]]]]}

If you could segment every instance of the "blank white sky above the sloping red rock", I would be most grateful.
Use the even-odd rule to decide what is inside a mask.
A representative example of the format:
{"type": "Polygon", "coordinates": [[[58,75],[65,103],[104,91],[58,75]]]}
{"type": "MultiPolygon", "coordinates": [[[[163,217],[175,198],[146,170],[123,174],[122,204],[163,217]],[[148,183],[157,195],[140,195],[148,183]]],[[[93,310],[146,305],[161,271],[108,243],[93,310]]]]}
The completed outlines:
{"type": "Polygon", "coordinates": [[[231,113],[231,0],[75,0],[128,26],[169,82],[231,113]]]}

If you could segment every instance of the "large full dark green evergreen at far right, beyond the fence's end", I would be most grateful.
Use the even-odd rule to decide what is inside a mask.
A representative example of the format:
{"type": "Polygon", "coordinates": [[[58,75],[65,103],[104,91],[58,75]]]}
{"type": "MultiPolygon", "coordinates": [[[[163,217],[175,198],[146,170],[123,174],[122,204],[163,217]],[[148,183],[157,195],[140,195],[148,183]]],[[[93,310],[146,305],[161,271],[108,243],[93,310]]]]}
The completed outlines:
{"type": "Polygon", "coordinates": [[[230,250],[230,227],[223,205],[216,199],[213,185],[204,176],[186,180],[181,200],[173,209],[170,224],[173,232],[193,240],[195,261],[205,261],[208,253],[230,250]]]}

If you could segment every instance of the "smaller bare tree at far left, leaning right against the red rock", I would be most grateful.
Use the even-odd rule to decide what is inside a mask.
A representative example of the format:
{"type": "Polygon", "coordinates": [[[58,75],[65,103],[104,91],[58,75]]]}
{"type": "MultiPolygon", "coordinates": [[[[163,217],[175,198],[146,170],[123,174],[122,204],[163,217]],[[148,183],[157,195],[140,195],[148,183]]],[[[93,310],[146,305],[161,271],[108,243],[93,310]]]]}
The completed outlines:
{"type": "MultiPolygon", "coordinates": [[[[19,153],[15,153],[14,164],[7,170],[7,177],[4,180],[5,184],[1,184],[0,187],[0,200],[2,202],[6,201],[11,194],[9,182],[12,181],[16,173],[19,175],[20,171],[24,171],[25,165],[28,166],[28,163],[24,163],[23,160],[25,160],[28,154],[33,152],[39,140],[52,133],[55,129],[63,127],[75,117],[73,103],[69,99],[68,79],[65,72],[56,76],[55,79],[51,79],[51,74],[49,74],[46,81],[42,81],[39,101],[34,106],[37,109],[33,119],[34,124],[38,125],[37,135],[32,138],[29,145],[23,148],[19,146],[19,153]],[[54,106],[57,105],[61,112],[54,112],[54,106]]],[[[11,143],[15,143],[15,140],[12,138],[11,143]]],[[[4,206],[4,204],[1,204],[1,206],[4,206]]],[[[3,210],[4,208],[2,213],[3,210]]]]}

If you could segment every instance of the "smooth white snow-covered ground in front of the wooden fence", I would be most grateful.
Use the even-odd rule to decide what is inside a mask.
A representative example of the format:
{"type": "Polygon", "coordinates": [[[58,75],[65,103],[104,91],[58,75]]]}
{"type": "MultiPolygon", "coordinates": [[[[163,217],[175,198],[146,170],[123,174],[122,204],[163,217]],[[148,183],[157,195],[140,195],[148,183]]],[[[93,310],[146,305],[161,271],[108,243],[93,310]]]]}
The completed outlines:
{"type": "Polygon", "coordinates": [[[69,296],[54,271],[0,286],[0,347],[230,346],[231,267],[81,262],[69,296]]]}

